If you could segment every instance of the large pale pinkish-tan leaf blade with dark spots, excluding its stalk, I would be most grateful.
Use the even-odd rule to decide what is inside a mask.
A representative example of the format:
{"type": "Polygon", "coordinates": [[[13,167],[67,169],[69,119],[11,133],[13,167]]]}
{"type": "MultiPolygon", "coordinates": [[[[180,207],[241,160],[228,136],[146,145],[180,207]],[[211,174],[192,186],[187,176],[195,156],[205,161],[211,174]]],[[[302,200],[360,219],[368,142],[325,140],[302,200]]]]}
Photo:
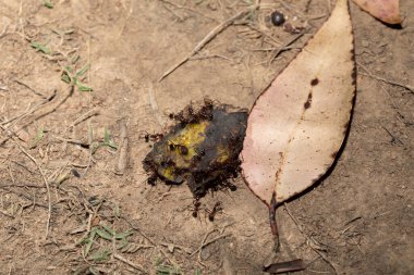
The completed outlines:
{"type": "Polygon", "coordinates": [[[241,153],[243,176],[268,205],[318,180],[332,165],[350,122],[354,85],[348,1],[257,99],[241,153]]]}

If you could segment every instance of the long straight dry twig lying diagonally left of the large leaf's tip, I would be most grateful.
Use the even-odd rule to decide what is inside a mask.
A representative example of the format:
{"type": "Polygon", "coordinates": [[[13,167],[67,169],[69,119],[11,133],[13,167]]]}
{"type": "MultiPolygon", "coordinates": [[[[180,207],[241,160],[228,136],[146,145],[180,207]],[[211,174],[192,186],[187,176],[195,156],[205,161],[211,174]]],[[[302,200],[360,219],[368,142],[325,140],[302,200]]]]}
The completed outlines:
{"type": "Polygon", "coordinates": [[[257,5],[253,5],[252,8],[248,8],[247,10],[243,10],[232,17],[228,18],[227,21],[220,23],[217,25],[214,29],[211,29],[210,33],[208,33],[202,41],[197,43],[197,46],[181,61],[179,61],[175,65],[173,65],[170,70],[168,70],[166,73],[162,74],[162,76],[158,79],[158,82],[161,82],[163,78],[166,78],[168,75],[170,75],[172,72],[174,72],[178,67],[180,67],[182,64],[187,62],[194,54],[196,54],[200,49],[203,49],[209,41],[211,41],[212,38],[215,38],[218,34],[223,32],[227,27],[232,25],[234,21],[242,18],[245,16],[249,11],[256,9],[257,5]]]}

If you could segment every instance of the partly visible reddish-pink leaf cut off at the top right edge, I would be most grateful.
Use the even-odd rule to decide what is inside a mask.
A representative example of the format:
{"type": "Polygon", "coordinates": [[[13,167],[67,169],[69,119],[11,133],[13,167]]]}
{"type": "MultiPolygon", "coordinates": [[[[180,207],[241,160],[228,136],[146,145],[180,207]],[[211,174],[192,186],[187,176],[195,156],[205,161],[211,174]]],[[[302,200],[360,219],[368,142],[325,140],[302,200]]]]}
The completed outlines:
{"type": "Polygon", "coordinates": [[[354,0],[354,2],[385,23],[401,24],[400,0],[354,0]]]}

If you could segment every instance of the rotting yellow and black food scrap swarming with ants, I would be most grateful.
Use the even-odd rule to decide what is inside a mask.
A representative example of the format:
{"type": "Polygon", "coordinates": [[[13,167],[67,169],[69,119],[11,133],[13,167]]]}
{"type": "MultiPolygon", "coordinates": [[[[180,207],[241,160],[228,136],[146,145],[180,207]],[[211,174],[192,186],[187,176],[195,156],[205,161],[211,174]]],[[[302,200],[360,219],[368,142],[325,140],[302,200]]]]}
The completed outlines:
{"type": "Polygon", "coordinates": [[[240,171],[247,111],[229,112],[205,100],[198,112],[190,105],[176,115],[171,128],[143,161],[144,170],[167,184],[187,182],[194,197],[229,186],[240,171]]]}

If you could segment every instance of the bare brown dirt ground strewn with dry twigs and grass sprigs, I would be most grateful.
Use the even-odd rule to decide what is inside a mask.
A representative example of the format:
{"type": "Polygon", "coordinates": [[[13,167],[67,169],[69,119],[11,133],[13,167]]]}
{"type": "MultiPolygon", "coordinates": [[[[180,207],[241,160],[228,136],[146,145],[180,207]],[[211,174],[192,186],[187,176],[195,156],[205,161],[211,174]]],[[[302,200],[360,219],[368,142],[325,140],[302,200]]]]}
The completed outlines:
{"type": "Polygon", "coordinates": [[[325,180],[278,210],[276,258],[268,210],[242,179],[202,200],[222,202],[214,222],[204,210],[195,218],[185,184],[147,185],[144,136],[205,96],[251,108],[333,1],[261,1],[160,83],[253,1],[50,2],[0,0],[0,274],[261,274],[264,263],[296,258],[308,264],[299,274],[414,273],[413,1],[401,1],[402,28],[351,3],[348,142],[325,180]],[[273,10],[304,35],[270,25],[273,10]]]}

